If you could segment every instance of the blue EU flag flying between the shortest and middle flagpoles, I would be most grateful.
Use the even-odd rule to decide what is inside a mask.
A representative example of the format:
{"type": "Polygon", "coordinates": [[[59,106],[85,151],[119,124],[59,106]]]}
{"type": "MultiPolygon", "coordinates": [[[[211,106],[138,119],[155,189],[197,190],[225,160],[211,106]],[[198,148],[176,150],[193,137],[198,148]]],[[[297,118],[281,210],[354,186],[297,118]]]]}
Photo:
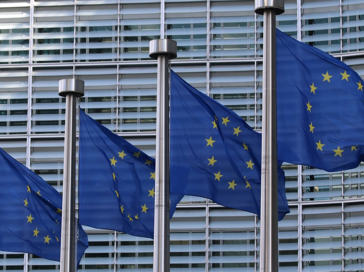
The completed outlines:
{"type": "MultiPolygon", "coordinates": [[[[155,159],[80,110],[80,224],[153,238],[155,159]]],[[[171,195],[170,215],[181,200],[171,195]]]]}

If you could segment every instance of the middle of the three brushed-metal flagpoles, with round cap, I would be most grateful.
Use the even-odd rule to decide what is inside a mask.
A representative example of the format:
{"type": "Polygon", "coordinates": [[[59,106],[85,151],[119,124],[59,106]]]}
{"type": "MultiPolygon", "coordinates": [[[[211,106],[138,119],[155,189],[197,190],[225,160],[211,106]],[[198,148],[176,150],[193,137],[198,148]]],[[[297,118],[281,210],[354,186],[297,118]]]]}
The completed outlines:
{"type": "Polygon", "coordinates": [[[157,67],[157,142],[155,152],[155,200],[153,272],[169,272],[169,60],[177,57],[177,42],[150,41],[149,56],[157,67]]]}

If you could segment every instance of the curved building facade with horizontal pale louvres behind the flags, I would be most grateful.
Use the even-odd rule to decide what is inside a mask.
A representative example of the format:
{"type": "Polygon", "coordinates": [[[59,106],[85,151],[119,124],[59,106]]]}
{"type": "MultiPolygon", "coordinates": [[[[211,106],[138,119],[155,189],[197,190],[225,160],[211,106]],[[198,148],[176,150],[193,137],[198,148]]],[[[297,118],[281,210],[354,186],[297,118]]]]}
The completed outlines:
{"type": "MultiPolygon", "coordinates": [[[[86,113],[154,156],[157,63],[148,52],[159,37],[177,41],[175,72],[259,131],[262,21],[253,0],[1,0],[0,147],[62,191],[58,81],[78,78],[86,113]]],[[[277,27],[364,77],[363,0],[285,0],[277,27]]],[[[283,167],[290,214],[279,222],[279,271],[364,271],[364,164],[283,167]]],[[[253,214],[185,196],[171,220],[171,271],[258,271],[259,226],[253,214]]],[[[152,271],[152,240],[85,229],[79,271],[152,271]]],[[[0,270],[58,269],[0,251],[0,270]]]]}

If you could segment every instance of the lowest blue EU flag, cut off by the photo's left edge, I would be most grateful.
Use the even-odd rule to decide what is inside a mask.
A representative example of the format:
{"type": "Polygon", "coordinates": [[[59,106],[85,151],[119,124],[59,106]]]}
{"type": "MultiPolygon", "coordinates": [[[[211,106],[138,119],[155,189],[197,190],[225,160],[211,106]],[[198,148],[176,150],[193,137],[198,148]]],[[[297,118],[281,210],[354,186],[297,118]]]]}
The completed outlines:
{"type": "MultiPolygon", "coordinates": [[[[62,196],[0,149],[0,249],[59,261],[62,196]]],[[[88,247],[79,227],[77,262],[88,247]]]]}

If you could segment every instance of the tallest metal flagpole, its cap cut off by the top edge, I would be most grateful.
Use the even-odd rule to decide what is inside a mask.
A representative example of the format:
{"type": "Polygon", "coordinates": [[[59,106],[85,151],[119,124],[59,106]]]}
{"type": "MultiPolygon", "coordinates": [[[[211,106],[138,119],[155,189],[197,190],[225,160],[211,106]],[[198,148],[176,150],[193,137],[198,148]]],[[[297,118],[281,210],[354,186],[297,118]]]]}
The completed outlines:
{"type": "Polygon", "coordinates": [[[264,15],[260,272],[277,272],[276,15],[284,12],[284,0],[255,0],[255,12],[264,15]]]}

